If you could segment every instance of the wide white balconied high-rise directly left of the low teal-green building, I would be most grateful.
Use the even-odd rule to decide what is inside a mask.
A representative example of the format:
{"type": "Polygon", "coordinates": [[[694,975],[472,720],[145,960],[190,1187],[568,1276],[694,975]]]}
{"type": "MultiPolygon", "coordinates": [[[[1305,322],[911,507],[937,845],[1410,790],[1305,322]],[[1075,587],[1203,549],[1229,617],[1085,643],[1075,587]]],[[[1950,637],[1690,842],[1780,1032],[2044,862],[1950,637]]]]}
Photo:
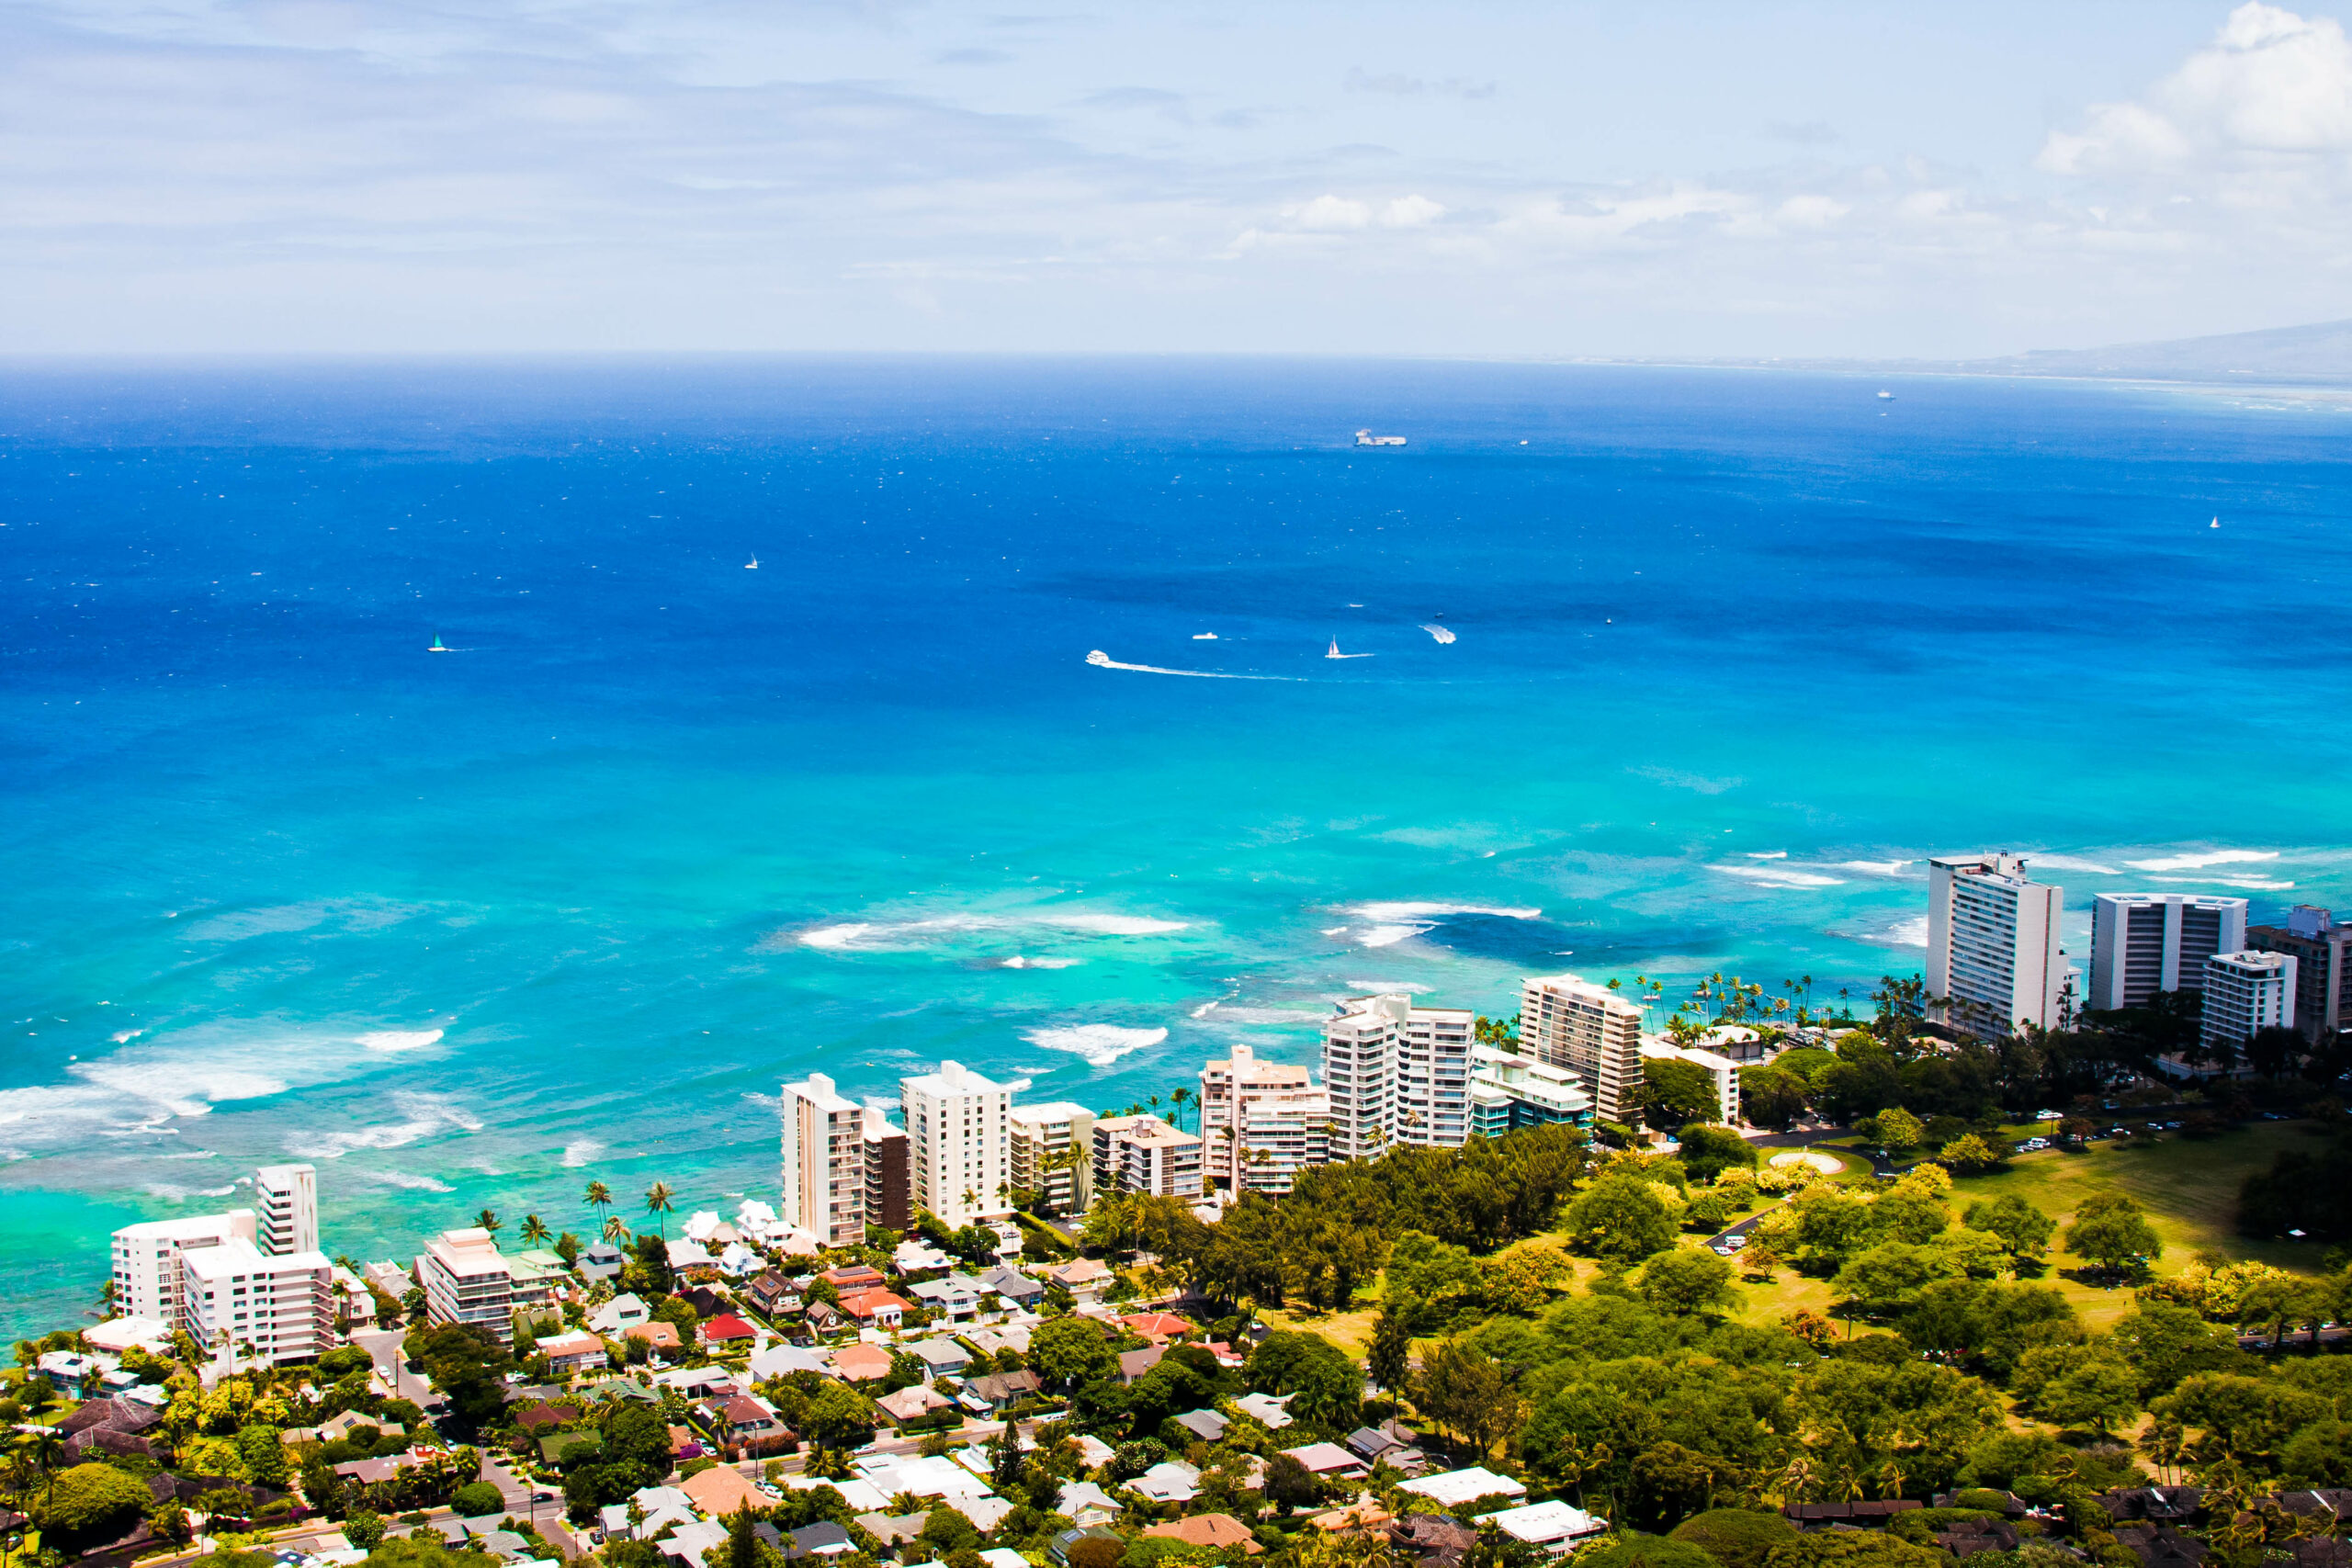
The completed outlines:
{"type": "Polygon", "coordinates": [[[1470,1135],[1465,1009],[1414,1006],[1404,992],[1350,997],[1324,1020],[1331,1159],[1392,1143],[1458,1147],[1470,1135]]]}

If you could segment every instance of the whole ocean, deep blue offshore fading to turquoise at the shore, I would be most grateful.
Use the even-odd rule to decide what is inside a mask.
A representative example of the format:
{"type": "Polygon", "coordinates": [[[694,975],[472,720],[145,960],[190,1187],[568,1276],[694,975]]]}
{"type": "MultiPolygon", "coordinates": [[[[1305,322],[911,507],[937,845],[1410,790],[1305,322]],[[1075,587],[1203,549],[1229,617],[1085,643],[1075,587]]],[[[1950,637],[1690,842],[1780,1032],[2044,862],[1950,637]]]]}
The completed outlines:
{"type": "Polygon", "coordinates": [[[2345,416],[1889,386],[14,369],[7,1326],[263,1159],[388,1255],[771,1197],[818,1067],[1124,1105],[1374,983],[1858,994],[1938,851],[2039,851],[2077,954],[2098,889],[2352,900],[2345,416]]]}

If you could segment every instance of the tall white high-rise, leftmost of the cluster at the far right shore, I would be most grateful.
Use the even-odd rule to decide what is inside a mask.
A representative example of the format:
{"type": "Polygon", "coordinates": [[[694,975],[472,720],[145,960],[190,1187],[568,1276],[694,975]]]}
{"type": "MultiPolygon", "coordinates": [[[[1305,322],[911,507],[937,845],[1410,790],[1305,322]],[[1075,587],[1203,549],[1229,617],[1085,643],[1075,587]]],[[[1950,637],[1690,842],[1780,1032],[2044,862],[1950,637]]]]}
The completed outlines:
{"type": "Polygon", "coordinates": [[[1926,863],[1926,886],[1929,1018],[1983,1037],[2060,1027],[2065,891],[2027,879],[2023,856],[1940,856],[1926,863]]]}

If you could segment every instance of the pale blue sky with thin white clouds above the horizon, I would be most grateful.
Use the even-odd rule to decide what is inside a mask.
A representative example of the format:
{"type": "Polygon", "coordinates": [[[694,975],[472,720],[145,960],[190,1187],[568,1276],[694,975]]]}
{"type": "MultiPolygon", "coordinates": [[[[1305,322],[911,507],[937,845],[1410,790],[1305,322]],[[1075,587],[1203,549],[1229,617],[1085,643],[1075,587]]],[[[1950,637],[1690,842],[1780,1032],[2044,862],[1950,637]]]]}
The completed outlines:
{"type": "Polygon", "coordinates": [[[2260,2],[0,0],[0,353],[1971,357],[2347,197],[2260,2]]]}

